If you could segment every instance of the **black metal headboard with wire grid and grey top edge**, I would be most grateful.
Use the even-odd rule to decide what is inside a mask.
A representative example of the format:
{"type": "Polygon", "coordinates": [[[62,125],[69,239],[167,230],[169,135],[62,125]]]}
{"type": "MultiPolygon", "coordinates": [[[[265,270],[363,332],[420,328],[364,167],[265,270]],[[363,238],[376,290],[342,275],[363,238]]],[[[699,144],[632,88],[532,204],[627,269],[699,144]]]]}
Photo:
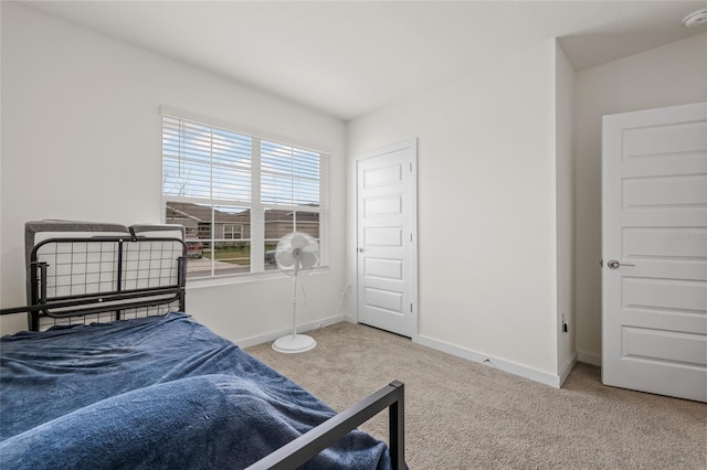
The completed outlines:
{"type": "Polygon", "coordinates": [[[27,233],[28,305],[0,314],[27,311],[32,331],[184,310],[181,226],[106,229],[105,224],[52,221],[28,223],[27,233]],[[43,239],[36,241],[40,232],[43,239]]]}

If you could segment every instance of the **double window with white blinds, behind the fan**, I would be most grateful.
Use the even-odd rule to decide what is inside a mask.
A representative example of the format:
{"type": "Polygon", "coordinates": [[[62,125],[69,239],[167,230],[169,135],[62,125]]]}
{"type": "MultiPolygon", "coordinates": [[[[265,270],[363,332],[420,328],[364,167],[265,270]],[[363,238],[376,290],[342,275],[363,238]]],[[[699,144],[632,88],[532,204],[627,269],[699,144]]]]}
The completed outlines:
{"type": "Polygon", "coordinates": [[[276,269],[294,231],[319,241],[325,265],[328,178],[326,153],[162,115],[165,220],[186,227],[190,278],[276,269]]]}

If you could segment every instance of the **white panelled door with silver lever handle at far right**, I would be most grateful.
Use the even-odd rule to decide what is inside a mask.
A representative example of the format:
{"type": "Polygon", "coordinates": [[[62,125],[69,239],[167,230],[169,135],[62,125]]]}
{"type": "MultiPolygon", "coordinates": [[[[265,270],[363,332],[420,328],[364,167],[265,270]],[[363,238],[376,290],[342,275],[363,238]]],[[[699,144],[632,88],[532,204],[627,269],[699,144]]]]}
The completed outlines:
{"type": "Polygon", "coordinates": [[[707,402],[707,103],[605,116],[602,382],[707,402]]]}

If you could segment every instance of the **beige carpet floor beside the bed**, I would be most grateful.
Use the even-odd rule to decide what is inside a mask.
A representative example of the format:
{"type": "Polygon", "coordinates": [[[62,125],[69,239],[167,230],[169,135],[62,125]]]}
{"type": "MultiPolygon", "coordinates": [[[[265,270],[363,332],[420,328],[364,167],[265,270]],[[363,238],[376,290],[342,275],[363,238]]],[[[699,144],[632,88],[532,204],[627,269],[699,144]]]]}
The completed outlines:
{"type": "MultiPolygon", "coordinates": [[[[599,367],[556,389],[366,325],[308,334],[305,353],[247,351],[337,410],[403,382],[411,469],[707,469],[706,404],[604,386],[599,367]]],[[[361,429],[387,441],[387,413],[361,429]]]]}

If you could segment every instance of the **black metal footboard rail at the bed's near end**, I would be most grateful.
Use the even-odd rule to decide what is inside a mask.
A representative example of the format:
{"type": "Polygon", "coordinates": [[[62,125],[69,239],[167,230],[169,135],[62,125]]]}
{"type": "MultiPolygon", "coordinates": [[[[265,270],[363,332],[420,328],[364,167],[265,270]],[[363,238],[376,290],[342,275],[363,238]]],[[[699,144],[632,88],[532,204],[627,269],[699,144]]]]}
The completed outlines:
{"type": "Polygon", "coordinates": [[[403,470],[405,469],[404,384],[398,381],[391,382],[350,408],[265,456],[246,470],[298,468],[386,408],[389,409],[391,466],[394,470],[403,470]]]}

